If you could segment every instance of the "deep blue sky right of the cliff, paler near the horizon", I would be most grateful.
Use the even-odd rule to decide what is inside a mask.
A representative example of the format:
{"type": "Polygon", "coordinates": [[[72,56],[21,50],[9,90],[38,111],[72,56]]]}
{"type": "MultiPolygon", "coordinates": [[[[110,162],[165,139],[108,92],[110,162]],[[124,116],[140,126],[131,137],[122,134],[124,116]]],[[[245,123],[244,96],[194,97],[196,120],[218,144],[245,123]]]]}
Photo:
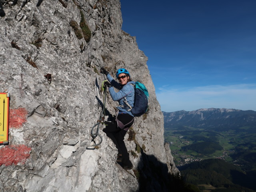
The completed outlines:
{"type": "Polygon", "coordinates": [[[256,0],[121,0],[161,110],[256,111],[256,0]]]}

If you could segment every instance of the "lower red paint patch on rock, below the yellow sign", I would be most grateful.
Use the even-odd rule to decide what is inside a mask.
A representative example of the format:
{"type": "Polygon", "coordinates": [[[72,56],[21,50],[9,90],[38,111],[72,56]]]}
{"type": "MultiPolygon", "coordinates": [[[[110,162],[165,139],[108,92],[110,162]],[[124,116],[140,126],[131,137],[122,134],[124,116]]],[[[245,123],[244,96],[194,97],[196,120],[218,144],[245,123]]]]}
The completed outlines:
{"type": "Polygon", "coordinates": [[[0,149],[0,166],[24,164],[30,157],[31,148],[26,145],[5,146],[0,149]]]}

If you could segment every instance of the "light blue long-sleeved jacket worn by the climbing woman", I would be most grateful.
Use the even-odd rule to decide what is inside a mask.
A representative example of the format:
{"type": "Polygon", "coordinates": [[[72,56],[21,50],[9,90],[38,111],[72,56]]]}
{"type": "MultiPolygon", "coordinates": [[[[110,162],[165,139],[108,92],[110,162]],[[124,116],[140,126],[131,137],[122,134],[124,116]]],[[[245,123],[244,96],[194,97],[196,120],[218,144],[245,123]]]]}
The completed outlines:
{"type": "Polygon", "coordinates": [[[127,111],[127,109],[130,109],[130,108],[125,104],[123,98],[126,97],[128,104],[131,107],[133,107],[133,105],[134,105],[134,86],[132,86],[131,84],[135,84],[135,82],[131,81],[131,82],[128,82],[126,85],[122,86],[120,83],[116,82],[110,74],[107,75],[107,78],[108,78],[108,81],[110,82],[110,84],[113,86],[108,89],[110,96],[112,97],[112,99],[114,101],[118,101],[119,105],[125,106],[124,108],[118,106],[119,112],[125,112],[134,117],[134,115],[130,111],[127,111]],[[115,92],[114,87],[117,88],[119,91],[115,92]]]}

